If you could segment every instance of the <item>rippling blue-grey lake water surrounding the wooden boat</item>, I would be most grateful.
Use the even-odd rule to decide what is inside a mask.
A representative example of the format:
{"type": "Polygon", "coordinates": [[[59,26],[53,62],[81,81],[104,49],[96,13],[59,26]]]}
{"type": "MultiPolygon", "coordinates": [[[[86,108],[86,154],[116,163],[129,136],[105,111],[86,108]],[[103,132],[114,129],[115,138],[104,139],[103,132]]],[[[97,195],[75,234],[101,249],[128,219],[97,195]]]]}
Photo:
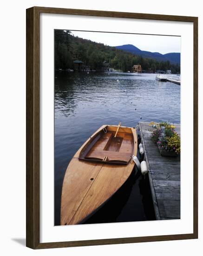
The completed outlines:
{"type": "MultiPolygon", "coordinates": [[[[61,188],[67,165],[99,127],[119,122],[135,127],[138,121],[180,123],[180,85],[160,82],[155,77],[156,74],[135,73],[55,73],[55,225],[59,225],[61,188]]],[[[135,181],[128,184],[131,188],[128,196],[114,215],[108,216],[103,210],[88,223],[153,219],[146,211],[150,199],[144,202],[147,194],[142,193],[143,181],[140,177],[137,180],[137,184],[135,181]],[[136,206],[140,210],[134,212],[130,209],[134,207],[136,191],[139,193],[136,206]],[[101,216],[105,218],[101,220],[101,216]]],[[[105,206],[107,212],[119,198],[112,198],[109,206],[105,206]]]]}

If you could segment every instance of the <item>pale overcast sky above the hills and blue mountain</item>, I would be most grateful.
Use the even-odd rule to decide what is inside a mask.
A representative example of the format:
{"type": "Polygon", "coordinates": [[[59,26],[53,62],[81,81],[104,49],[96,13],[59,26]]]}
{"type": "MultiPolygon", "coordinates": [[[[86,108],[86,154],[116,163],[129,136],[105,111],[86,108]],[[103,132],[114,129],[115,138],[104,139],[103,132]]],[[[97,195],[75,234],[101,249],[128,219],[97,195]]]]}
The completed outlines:
{"type": "Polygon", "coordinates": [[[132,44],[142,51],[160,54],[180,53],[181,37],[142,34],[117,34],[105,32],[71,31],[74,36],[109,46],[132,44]]]}

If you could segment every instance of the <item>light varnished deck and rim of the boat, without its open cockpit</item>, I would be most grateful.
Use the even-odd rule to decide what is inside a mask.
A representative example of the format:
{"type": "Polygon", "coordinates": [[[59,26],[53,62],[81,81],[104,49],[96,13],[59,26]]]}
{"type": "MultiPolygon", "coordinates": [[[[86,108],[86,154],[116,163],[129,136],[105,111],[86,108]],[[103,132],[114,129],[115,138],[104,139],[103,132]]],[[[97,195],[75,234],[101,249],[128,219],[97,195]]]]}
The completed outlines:
{"type": "MultiPolygon", "coordinates": [[[[99,128],[79,148],[66,169],[61,194],[61,225],[78,224],[90,216],[124,184],[134,168],[132,158],[125,165],[80,159],[82,150],[90,143],[92,137],[106,127],[117,128],[106,125],[99,128]]],[[[130,129],[133,136],[132,155],[137,155],[136,130],[126,129],[130,129]]]]}

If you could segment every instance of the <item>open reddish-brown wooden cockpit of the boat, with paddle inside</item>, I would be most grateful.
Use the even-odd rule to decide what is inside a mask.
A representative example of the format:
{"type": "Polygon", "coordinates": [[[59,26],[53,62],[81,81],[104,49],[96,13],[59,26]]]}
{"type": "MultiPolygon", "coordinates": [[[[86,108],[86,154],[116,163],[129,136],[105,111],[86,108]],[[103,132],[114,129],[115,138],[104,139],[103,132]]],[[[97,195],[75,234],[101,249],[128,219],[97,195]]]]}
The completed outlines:
{"type": "Polygon", "coordinates": [[[106,126],[82,148],[79,159],[90,162],[127,164],[134,148],[132,129],[106,126]],[[115,137],[116,135],[116,137],[115,137]]]}

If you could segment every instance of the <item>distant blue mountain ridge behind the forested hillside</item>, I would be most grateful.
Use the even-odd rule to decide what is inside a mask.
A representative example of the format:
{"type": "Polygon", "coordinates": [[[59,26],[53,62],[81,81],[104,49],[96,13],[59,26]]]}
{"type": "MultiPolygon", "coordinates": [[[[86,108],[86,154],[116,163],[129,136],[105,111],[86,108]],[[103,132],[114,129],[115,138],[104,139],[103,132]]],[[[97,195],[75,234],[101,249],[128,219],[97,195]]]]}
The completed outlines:
{"type": "Polygon", "coordinates": [[[173,64],[180,65],[180,53],[169,53],[169,54],[160,54],[160,53],[151,53],[148,51],[142,51],[138,47],[135,47],[131,44],[116,46],[117,49],[129,52],[135,55],[141,55],[143,58],[152,58],[157,61],[170,61],[173,64]]]}

